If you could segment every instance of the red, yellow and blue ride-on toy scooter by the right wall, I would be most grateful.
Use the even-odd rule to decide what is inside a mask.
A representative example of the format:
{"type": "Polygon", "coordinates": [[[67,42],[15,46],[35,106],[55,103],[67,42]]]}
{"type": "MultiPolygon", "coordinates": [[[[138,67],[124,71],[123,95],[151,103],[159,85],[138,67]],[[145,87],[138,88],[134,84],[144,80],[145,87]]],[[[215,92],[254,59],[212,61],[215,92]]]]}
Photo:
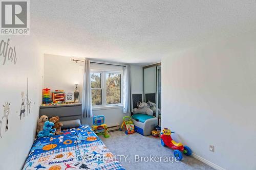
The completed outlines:
{"type": "Polygon", "coordinates": [[[175,133],[170,131],[168,128],[164,128],[161,133],[161,144],[163,147],[167,145],[167,147],[170,147],[174,150],[174,156],[176,159],[181,160],[182,159],[182,153],[190,156],[192,154],[192,151],[187,146],[183,146],[182,143],[177,143],[172,139],[170,136],[171,133],[175,133]]]}

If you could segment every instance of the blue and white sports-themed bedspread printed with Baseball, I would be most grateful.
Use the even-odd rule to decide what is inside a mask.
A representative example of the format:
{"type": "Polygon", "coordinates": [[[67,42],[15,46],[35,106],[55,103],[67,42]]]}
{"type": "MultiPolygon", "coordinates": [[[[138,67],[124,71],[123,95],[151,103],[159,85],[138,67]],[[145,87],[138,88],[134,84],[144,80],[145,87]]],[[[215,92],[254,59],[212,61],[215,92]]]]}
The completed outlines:
{"type": "Polygon", "coordinates": [[[36,138],[24,170],[124,169],[88,125],[36,138]]]}

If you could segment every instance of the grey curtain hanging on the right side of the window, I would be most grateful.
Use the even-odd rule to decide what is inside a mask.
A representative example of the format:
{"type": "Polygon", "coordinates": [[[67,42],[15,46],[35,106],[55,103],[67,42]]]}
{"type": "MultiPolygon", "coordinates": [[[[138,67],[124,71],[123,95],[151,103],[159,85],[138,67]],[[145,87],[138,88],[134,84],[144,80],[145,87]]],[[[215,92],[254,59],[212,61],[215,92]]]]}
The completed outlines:
{"type": "Polygon", "coordinates": [[[131,112],[131,65],[123,67],[123,113],[131,112]]]}

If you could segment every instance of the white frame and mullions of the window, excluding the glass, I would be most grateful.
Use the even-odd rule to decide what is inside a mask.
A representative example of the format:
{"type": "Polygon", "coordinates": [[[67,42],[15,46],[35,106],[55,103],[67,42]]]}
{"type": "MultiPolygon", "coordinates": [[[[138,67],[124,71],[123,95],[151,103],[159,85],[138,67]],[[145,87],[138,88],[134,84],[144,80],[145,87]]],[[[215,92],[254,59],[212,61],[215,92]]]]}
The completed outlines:
{"type": "Polygon", "coordinates": [[[92,105],[92,108],[104,108],[104,107],[121,107],[123,106],[123,72],[122,71],[111,71],[111,70],[98,70],[98,69],[91,69],[90,73],[101,73],[101,88],[92,88],[92,89],[102,89],[102,99],[101,99],[101,105],[92,105]],[[121,103],[117,104],[106,104],[106,74],[120,74],[121,75],[121,103]]]}

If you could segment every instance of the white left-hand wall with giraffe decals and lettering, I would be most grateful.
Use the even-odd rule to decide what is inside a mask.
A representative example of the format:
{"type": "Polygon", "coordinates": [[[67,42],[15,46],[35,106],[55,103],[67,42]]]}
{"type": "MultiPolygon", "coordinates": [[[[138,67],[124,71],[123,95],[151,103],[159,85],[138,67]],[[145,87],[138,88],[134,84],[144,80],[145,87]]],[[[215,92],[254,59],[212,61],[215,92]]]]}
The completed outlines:
{"type": "MultiPolygon", "coordinates": [[[[0,120],[4,115],[3,105],[10,103],[8,116],[9,130],[5,132],[6,118],[3,119],[0,138],[0,169],[21,169],[28,156],[35,138],[36,123],[39,115],[42,88],[42,53],[35,38],[30,36],[1,36],[0,41],[7,41],[15,46],[17,62],[6,61],[0,56],[0,120]],[[31,99],[30,113],[26,112],[20,120],[21,92],[31,99]]],[[[9,48],[9,47],[8,47],[9,48]]],[[[1,48],[1,52],[3,46],[1,48]]],[[[7,59],[8,60],[8,59],[7,59]]],[[[25,99],[27,102],[27,100],[25,99]]],[[[26,103],[25,102],[25,103],[26,103]]],[[[27,107],[25,108],[29,110],[27,107]]]]}

